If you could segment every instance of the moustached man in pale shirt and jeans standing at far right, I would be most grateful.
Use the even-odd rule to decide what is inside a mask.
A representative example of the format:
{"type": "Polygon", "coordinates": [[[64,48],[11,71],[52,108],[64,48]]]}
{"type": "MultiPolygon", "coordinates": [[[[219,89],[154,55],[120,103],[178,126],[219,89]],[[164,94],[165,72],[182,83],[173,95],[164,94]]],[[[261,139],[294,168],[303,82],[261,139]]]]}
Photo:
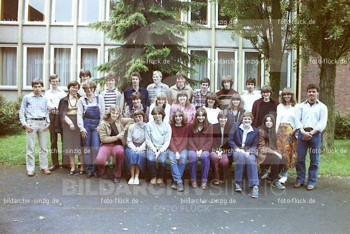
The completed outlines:
{"type": "Polygon", "coordinates": [[[301,187],[305,180],[305,157],[309,150],[310,165],[308,167],[307,190],[316,184],[318,171],[319,147],[321,132],[327,124],[328,109],[318,100],[319,86],[315,83],[307,85],[307,100],[295,109],[295,126],[299,130],[297,137],[296,182],[294,187],[301,187]]]}

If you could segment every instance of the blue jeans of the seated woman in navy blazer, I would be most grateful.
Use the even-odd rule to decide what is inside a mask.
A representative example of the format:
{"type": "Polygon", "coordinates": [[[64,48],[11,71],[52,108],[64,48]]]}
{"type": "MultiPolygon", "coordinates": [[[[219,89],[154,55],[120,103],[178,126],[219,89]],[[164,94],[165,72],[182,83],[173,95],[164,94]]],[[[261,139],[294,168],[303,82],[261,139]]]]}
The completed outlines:
{"type": "Polygon", "coordinates": [[[246,164],[246,172],[248,175],[248,187],[254,185],[259,186],[255,155],[250,154],[248,157],[245,157],[244,153],[234,152],[233,160],[235,161],[234,180],[236,181],[236,183],[240,183],[242,181],[243,169],[244,165],[246,164]]]}

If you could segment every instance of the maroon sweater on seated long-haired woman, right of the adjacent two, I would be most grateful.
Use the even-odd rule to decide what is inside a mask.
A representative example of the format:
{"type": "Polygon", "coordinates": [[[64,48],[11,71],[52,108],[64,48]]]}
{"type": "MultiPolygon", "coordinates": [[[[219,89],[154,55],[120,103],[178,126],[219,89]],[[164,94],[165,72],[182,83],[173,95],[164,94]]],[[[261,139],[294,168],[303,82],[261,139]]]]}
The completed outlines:
{"type": "Polygon", "coordinates": [[[199,131],[193,133],[193,124],[189,126],[188,136],[188,150],[200,150],[209,151],[212,146],[212,125],[208,123],[208,130],[206,133],[199,131]]]}

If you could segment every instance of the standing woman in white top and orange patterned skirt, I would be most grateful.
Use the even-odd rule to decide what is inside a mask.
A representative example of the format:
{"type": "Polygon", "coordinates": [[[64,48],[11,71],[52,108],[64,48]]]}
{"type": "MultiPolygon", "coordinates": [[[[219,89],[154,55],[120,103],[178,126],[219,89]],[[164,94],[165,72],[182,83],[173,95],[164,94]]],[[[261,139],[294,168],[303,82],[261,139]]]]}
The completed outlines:
{"type": "Polygon", "coordinates": [[[289,87],[285,87],[281,93],[281,103],[277,105],[276,117],[276,148],[277,151],[286,157],[287,162],[283,168],[283,175],[279,182],[285,183],[287,180],[288,168],[295,167],[296,162],[296,137],[295,132],[295,107],[296,101],[294,93],[289,87]]]}

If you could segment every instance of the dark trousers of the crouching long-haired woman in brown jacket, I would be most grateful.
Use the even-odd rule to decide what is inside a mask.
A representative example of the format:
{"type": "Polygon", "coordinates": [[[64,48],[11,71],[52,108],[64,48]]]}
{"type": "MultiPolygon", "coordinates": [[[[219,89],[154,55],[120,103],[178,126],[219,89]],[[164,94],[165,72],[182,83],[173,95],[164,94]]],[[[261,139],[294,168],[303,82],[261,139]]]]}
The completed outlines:
{"type": "Polygon", "coordinates": [[[270,167],[270,173],[268,174],[268,178],[270,180],[275,180],[278,177],[279,172],[282,170],[283,166],[287,162],[286,157],[279,157],[274,153],[267,153],[265,160],[261,163],[261,170],[267,170],[270,167]]]}

